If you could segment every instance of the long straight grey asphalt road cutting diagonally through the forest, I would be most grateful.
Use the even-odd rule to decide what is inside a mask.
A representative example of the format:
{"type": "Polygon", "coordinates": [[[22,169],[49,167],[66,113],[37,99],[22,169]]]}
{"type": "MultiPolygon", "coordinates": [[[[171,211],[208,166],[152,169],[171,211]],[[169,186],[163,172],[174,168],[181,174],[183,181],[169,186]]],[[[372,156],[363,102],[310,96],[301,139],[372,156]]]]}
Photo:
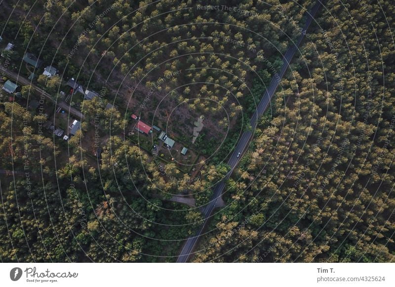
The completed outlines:
{"type": "MultiPolygon", "coordinates": [[[[286,70],[288,69],[289,64],[290,64],[293,56],[295,55],[296,51],[298,51],[298,48],[299,48],[299,46],[306,34],[306,31],[308,30],[310,24],[312,23],[320,6],[321,6],[321,1],[318,0],[316,2],[316,4],[313,6],[313,8],[311,9],[311,11],[306,15],[306,17],[307,17],[306,24],[305,24],[305,27],[303,28],[301,36],[299,36],[298,42],[296,44],[292,43],[291,46],[288,47],[288,50],[286,51],[286,53],[284,55],[281,70],[278,73],[278,76],[276,75],[272,78],[272,81],[270,82],[269,87],[267,88],[265,94],[263,95],[261,101],[259,102],[259,104],[256,108],[256,111],[254,112],[254,114],[251,117],[250,123],[251,123],[251,127],[253,127],[253,129],[255,129],[255,127],[256,127],[257,119],[260,118],[262,116],[262,114],[264,113],[264,111],[266,110],[266,108],[269,107],[270,101],[272,100],[272,97],[275,94],[276,89],[279,85],[279,81],[281,80],[281,78],[284,76],[286,70]]],[[[233,170],[235,169],[235,167],[236,167],[238,161],[240,160],[244,149],[247,147],[251,137],[252,137],[252,132],[248,132],[248,131],[243,132],[243,134],[240,138],[240,141],[238,142],[235,150],[233,151],[233,153],[228,161],[228,164],[231,167],[231,170],[225,176],[225,178],[222,179],[222,181],[220,181],[219,183],[217,183],[217,185],[214,187],[213,197],[210,200],[210,202],[204,207],[204,210],[203,210],[204,223],[200,227],[200,229],[197,231],[197,234],[195,236],[191,236],[190,238],[187,239],[180,255],[177,258],[178,263],[187,262],[190,254],[192,253],[192,251],[197,243],[197,240],[203,233],[203,229],[204,229],[208,219],[210,218],[211,213],[213,212],[213,210],[215,208],[215,204],[216,204],[218,198],[220,198],[222,195],[222,192],[225,188],[226,181],[229,179],[233,170]],[[241,155],[239,157],[237,157],[237,154],[239,152],[241,153],[241,155]]]]}

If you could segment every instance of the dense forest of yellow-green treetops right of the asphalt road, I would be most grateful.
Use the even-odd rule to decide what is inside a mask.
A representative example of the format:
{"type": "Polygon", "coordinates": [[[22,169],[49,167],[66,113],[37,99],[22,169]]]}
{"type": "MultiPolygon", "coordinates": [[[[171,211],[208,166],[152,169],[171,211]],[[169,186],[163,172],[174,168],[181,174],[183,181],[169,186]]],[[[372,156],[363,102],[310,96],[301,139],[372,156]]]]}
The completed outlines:
{"type": "Polygon", "coordinates": [[[394,260],[394,19],[381,5],[325,5],[194,262],[394,260]]]}

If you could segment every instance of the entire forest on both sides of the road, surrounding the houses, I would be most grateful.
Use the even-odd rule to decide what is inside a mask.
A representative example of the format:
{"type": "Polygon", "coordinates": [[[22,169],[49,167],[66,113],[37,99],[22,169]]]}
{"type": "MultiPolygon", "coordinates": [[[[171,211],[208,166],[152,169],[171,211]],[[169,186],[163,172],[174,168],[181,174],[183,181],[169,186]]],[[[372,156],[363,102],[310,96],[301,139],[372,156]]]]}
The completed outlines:
{"type": "Polygon", "coordinates": [[[394,260],[390,1],[326,1],[249,125],[314,3],[3,1],[0,49],[14,48],[2,51],[0,87],[11,72],[36,76],[0,95],[1,262],[175,262],[252,129],[190,261],[394,260]],[[45,65],[28,66],[26,52],[45,65]],[[47,78],[49,65],[59,73],[47,78]],[[64,96],[71,78],[100,96],[64,96]],[[45,112],[31,105],[41,90],[45,112]],[[70,126],[60,101],[83,114],[67,142],[41,125],[70,126]],[[157,134],[131,135],[132,114],[196,160],[172,161],[175,147],[157,160],[157,134]],[[172,201],[180,194],[195,207],[172,201]]]}

